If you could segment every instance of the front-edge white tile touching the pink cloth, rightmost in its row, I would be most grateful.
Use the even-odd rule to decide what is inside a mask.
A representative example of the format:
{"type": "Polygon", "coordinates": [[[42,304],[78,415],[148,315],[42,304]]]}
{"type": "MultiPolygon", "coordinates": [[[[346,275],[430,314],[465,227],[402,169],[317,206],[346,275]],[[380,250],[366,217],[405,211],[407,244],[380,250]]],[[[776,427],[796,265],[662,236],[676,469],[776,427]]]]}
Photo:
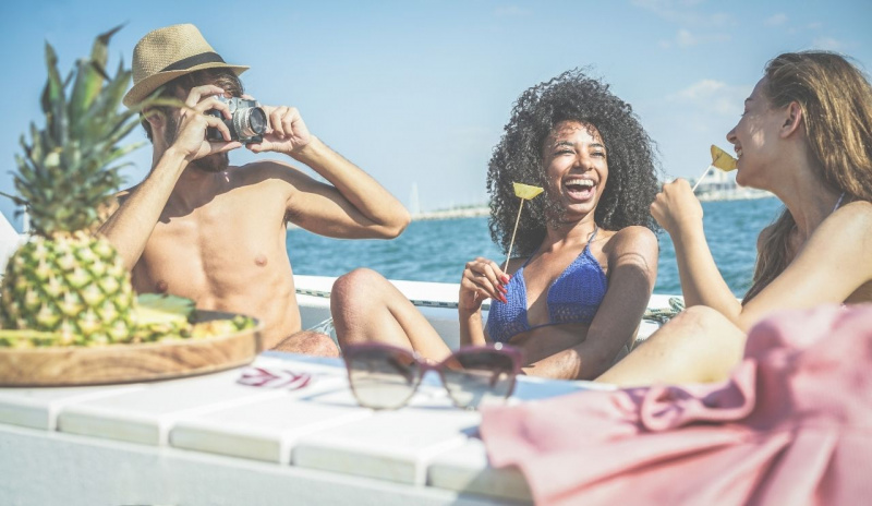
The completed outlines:
{"type": "Polygon", "coordinates": [[[492,468],[482,439],[471,437],[462,446],[434,458],[427,467],[427,484],[439,489],[532,501],[526,480],[517,468],[492,468]]]}

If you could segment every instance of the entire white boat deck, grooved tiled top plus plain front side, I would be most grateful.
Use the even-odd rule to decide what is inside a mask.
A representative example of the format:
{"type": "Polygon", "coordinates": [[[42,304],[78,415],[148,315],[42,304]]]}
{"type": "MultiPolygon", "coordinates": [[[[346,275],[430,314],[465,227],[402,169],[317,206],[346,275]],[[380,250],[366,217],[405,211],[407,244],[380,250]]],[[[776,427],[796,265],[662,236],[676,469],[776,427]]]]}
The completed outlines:
{"type": "MultiPolygon", "coordinates": [[[[310,373],[291,390],[241,370],[174,381],[0,388],[0,504],[512,504],[513,469],[488,466],[480,414],[436,376],[410,407],[360,408],[339,360],[267,352],[254,365],[310,373]]],[[[586,388],[520,378],[510,402],[586,388]]]]}

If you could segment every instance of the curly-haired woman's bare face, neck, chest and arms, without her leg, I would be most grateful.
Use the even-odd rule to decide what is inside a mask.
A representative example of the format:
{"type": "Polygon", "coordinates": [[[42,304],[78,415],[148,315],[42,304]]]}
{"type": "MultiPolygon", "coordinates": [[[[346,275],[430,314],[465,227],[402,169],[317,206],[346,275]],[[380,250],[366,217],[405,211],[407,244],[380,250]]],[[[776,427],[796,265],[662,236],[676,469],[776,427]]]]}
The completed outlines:
{"type": "MultiPolygon", "coordinates": [[[[543,166],[553,193],[564,208],[564,220],[548,227],[538,251],[524,267],[528,323],[548,322],[547,293],[554,281],[588,245],[594,233],[594,214],[608,180],[607,153],[593,125],[559,123],[542,149],[543,166]],[[576,178],[595,181],[593,198],[576,198],[567,183],[576,178]]],[[[657,239],[644,227],[618,231],[600,229],[590,250],[608,278],[608,289],[590,325],[548,325],[512,336],[521,348],[526,374],[564,380],[596,377],[632,348],[639,323],[657,277],[657,239]]],[[[523,260],[512,261],[514,273],[523,260]]],[[[491,340],[483,328],[481,301],[499,298],[508,281],[493,261],[467,264],[460,289],[461,342],[484,345],[491,340]]]]}

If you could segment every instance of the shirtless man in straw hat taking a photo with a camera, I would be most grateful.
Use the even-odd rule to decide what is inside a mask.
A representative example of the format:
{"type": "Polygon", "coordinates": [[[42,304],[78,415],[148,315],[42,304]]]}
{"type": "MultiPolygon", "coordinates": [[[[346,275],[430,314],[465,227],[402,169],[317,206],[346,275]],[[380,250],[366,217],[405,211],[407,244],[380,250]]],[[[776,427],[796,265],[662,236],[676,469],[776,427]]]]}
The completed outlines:
{"type": "Polygon", "coordinates": [[[193,25],[160,28],[140,40],[124,104],[135,107],[164,86],[162,96],[186,108],[146,109],[152,171],[121,192],[100,231],[132,269],[137,292],[172,293],[199,309],[255,316],[264,323],[266,349],[336,354],[329,337],[300,332],[287,222],[335,238],[390,239],[409,224],[409,213],[312,135],[293,108],[263,106],[269,128],[263,142],[244,147],[290,156],[330,184],[284,161],[229,166],[227,153],[243,145],[230,142],[227,125],[204,112],[230,118],[216,97],[242,96],[237,75],[246,69],[225,63],[193,25]],[[225,142],[208,142],[208,128],[225,142]]]}

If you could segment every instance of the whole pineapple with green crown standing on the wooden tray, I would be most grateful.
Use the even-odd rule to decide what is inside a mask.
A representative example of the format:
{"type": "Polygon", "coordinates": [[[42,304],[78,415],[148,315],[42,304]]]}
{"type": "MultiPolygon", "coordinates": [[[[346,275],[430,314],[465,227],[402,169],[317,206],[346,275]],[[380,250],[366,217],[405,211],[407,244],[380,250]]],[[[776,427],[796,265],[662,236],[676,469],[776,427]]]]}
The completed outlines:
{"type": "Polygon", "coordinates": [[[7,329],[55,333],[60,345],[124,342],[134,335],[130,273],[93,233],[99,209],[122,183],[123,165],[112,164],[142,145],[119,145],[137,124],[136,111],[119,112],[131,72],[123,62],[114,77],[104,70],[119,28],[99,35],[90,57],[65,80],[46,44],[46,126],[31,123],[31,144],[22,135],[24,156],[15,157],[15,201],[28,209],[33,237],[7,265],[0,317],[7,329]]]}

